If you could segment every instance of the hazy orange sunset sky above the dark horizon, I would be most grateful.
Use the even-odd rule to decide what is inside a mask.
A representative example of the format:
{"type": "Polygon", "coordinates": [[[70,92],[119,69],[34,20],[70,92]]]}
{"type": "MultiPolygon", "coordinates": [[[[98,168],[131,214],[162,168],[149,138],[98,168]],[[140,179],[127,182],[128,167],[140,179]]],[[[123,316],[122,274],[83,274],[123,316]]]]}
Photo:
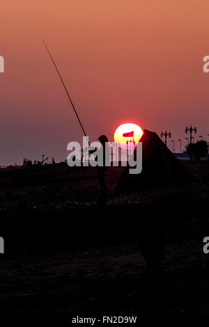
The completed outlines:
{"type": "Polygon", "coordinates": [[[184,141],[192,124],[209,141],[208,10],[208,0],[1,0],[0,165],[63,161],[82,138],[40,38],[90,141],[112,141],[124,122],[184,141]]]}

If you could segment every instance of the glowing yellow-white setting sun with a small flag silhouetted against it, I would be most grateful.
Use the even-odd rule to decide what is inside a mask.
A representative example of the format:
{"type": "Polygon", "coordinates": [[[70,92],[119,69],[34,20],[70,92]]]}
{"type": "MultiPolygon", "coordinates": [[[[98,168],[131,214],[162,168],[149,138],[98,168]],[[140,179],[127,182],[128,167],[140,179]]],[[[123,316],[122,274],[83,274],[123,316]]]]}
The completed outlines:
{"type": "Polygon", "coordinates": [[[132,123],[122,124],[114,133],[114,141],[122,143],[122,145],[126,144],[127,141],[134,141],[137,144],[142,135],[143,131],[138,125],[132,123]]]}

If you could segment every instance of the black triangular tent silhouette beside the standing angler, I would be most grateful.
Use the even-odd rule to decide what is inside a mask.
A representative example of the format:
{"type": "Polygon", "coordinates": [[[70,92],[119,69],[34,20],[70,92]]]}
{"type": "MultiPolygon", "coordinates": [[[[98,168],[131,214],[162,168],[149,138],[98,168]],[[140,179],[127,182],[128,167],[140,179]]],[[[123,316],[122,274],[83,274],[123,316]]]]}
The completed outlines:
{"type": "MultiPolygon", "coordinates": [[[[187,184],[194,179],[183,164],[153,131],[144,129],[142,142],[142,171],[130,174],[125,167],[115,193],[154,189],[160,186],[187,184]]],[[[136,158],[134,150],[134,158],[136,158]]]]}

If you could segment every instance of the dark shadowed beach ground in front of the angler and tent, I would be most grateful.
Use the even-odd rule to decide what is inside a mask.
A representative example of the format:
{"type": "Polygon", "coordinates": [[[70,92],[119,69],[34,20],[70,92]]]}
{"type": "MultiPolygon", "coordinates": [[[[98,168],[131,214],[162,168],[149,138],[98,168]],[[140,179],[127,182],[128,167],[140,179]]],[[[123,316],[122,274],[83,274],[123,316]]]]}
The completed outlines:
{"type": "Polygon", "coordinates": [[[105,210],[96,170],[0,174],[1,314],[209,312],[208,163],[187,165],[195,184],[111,198],[109,168],[105,210]]]}

